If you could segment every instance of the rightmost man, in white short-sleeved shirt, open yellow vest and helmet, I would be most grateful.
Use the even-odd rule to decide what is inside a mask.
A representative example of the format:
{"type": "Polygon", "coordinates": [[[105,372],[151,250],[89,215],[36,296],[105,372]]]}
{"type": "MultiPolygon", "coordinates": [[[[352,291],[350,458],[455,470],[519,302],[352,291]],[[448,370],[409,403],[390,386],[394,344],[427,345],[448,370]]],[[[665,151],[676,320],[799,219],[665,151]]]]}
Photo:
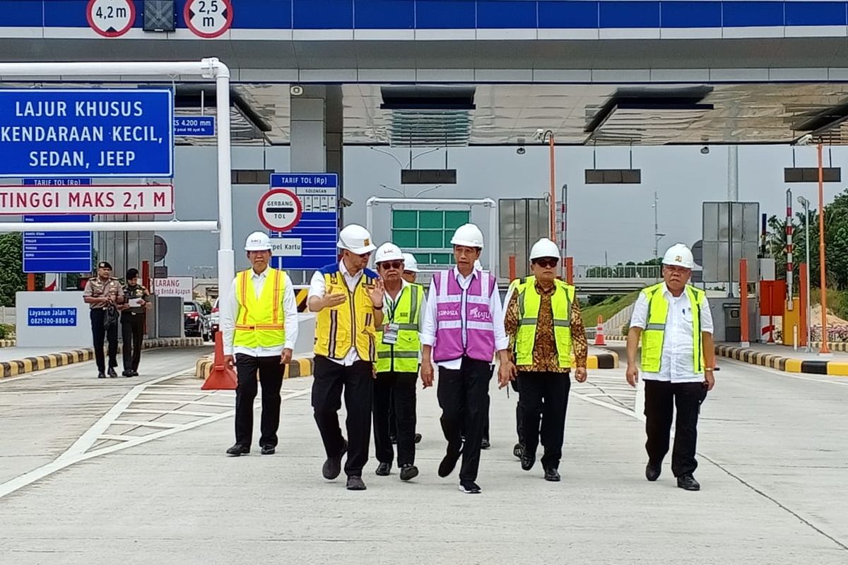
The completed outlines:
{"type": "Polygon", "coordinates": [[[627,379],[631,386],[639,380],[636,351],[640,338],[642,342],[640,365],[648,435],[645,477],[655,481],[660,476],[677,405],[672,473],[684,490],[700,490],[693,476],[698,467],[698,413],[706,393],[716,384],[710,305],[704,291],[686,284],[694,265],[689,247],[682,243],[669,247],[662,259],[663,282],[639,294],[628,332],[627,379]]]}

